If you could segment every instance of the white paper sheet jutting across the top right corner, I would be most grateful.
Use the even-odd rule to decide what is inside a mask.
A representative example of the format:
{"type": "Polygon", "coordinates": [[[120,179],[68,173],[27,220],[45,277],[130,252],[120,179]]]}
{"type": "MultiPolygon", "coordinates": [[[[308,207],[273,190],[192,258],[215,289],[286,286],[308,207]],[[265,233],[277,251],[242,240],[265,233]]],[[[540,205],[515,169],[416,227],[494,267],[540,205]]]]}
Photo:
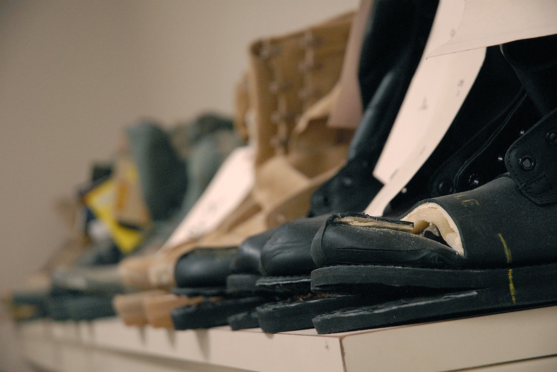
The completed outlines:
{"type": "Polygon", "coordinates": [[[555,0],[466,0],[455,36],[428,57],[557,34],[555,0]]]}

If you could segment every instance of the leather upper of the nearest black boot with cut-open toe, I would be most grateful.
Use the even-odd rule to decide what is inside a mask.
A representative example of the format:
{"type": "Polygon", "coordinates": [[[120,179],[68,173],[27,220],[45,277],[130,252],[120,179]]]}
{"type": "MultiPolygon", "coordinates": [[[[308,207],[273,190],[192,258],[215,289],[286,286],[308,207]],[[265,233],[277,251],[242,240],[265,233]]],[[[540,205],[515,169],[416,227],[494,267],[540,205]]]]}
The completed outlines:
{"type": "MultiPolygon", "coordinates": [[[[419,201],[402,217],[413,222],[411,232],[376,226],[375,217],[363,221],[356,214],[348,219],[330,217],[312,244],[318,266],[390,264],[481,270],[557,262],[555,239],[546,229],[557,217],[557,38],[522,40],[504,44],[501,50],[532,98],[530,116],[520,112],[526,131],[506,151],[508,173],[475,190],[419,201]],[[547,53],[539,50],[542,45],[547,53]],[[423,234],[431,225],[437,227],[439,239],[423,234]],[[387,232],[390,237],[378,244],[387,232]],[[402,239],[412,243],[402,244],[402,239]],[[532,244],[536,249],[531,249],[532,244]]],[[[516,119],[510,116],[510,121],[516,119]]],[[[429,285],[444,284],[436,277],[429,285]]]]}

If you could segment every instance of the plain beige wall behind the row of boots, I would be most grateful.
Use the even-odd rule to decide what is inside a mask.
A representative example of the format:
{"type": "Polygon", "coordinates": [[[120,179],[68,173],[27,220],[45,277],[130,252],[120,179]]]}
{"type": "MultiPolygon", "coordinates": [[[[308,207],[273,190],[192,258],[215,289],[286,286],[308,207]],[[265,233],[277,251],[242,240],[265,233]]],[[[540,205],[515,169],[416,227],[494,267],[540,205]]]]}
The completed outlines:
{"type": "MultiPolygon", "coordinates": [[[[0,1],[0,292],[63,240],[53,203],[108,160],[141,116],[173,125],[233,112],[256,38],[357,0],[0,1]]],[[[23,370],[5,324],[0,370],[23,370]],[[15,351],[15,352],[14,352],[15,351]]]]}

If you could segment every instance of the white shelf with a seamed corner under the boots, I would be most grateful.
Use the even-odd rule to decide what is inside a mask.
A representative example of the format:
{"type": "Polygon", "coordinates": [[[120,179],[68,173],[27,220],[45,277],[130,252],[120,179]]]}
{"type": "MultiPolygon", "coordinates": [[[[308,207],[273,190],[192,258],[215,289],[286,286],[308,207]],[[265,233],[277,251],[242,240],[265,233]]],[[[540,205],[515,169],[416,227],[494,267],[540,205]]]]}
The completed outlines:
{"type": "Polygon", "coordinates": [[[119,319],[37,320],[18,335],[27,360],[64,372],[557,370],[557,306],[332,335],[174,331],[119,319]]]}

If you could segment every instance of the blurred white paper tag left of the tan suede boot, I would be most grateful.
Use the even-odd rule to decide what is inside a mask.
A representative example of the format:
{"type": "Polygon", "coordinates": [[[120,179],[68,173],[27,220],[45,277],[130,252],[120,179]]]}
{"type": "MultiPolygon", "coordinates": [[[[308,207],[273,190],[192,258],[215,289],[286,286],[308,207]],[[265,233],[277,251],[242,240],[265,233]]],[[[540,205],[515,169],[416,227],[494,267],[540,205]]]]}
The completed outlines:
{"type": "Polygon", "coordinates": [[[255,182],[254,151],[236,148],[160,251],[196,239],[216,227],[246,198],[255,182]]]}

